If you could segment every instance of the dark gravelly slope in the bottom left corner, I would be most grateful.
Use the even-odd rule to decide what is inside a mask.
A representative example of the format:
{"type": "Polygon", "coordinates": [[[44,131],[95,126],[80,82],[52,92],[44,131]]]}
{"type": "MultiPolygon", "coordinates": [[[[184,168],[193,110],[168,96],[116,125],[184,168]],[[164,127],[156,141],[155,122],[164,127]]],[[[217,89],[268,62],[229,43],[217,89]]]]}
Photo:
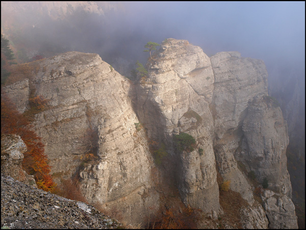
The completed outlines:
{"type": "Polygon", "coordinates": [[[1,175],[1,227],[124,228],[86,203],[66,199],[1,175]]]}

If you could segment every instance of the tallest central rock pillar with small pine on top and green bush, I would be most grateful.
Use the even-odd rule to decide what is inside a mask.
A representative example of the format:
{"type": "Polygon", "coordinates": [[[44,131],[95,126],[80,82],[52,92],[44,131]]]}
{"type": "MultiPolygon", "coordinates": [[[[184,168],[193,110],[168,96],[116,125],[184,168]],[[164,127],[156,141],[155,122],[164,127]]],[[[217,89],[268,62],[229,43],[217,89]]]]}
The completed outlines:
{"type": "Polygon", "coordinates": [[[147,63],[148,77],[137,86],[137,113],[148,137],[164,143],[177,162],[175,173],[186,205],[210,212],[219,209],[209,110],[214,76],[209,57],[186,40],[167,39],[147,63]],[[173,135],[192,135],[197,147],[178,152],[173,135]],[[202,148],[204,154],[199,154],[202,148]]]}

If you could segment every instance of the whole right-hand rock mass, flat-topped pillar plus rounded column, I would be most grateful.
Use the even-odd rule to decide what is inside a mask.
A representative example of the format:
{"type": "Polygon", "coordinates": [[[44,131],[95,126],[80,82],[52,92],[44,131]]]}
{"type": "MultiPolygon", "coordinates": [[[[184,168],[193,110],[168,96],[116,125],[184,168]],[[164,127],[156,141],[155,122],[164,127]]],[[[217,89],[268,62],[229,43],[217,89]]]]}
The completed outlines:
{"type": "MultiPolygon", "coordinates": [[[[268,74],[264,63],[241,58],[237,52],[218,53],[211,57],[211,62],[215,74],[214,149],[222,177],[230,180],[231,189],[239,192],[250,205],[254,202],[253,194],[243,170],[254,172],[260,183],[266,177],[269,188],[291,197],[286,158],[287,124],[276,101],[267,96],[268,74]]],[[[252,211],[248,215],[256,210],[249,209],[252,211]]],[[[268,215],[269,228],[284,227],[287,216],[295,216],[295,212],[288,209],[288,213],[279,211],[278,215],[282,217],[272,219],[272,214],[268,215]]],[[[252,225],[250,219],[247,222],[247,228],[261,228],[266,221],[261,226],[252,225]]],[[[297,227],[296,216],[286,224],[289,228],[297,227]]]]}

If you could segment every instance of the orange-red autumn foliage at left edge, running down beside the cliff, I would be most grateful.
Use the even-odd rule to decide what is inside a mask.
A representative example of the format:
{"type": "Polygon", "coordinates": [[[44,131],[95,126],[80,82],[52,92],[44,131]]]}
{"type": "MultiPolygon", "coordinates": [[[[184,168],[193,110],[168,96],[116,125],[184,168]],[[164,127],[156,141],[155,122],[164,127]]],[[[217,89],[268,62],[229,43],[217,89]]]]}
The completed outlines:
{"type": "Polygon", "coordinates": [[[1,134],[16,134],[21,137],[28,150],[22,161],[23,169],[34,175],[38,188],[53,191],[56,184],[50,176],[50,166],[44,154],[41,138],[32,131],[29,120],[20,114],[7,96],[1,97],[1,134]]]}

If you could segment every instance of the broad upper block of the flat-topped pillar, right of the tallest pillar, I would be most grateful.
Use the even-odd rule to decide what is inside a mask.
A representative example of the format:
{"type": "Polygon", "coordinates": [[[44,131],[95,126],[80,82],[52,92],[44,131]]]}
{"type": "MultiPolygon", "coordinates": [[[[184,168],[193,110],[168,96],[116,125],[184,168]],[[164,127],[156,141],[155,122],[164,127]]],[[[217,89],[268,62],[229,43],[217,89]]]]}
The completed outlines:
{"type": "Polygon", "coordinates": [[[214,124],[217,139],[243,121],[248,101],[268,95],[268,73],[262,60],[242,58],[238,52],[211,57],[215,76],[214,124]]]}

